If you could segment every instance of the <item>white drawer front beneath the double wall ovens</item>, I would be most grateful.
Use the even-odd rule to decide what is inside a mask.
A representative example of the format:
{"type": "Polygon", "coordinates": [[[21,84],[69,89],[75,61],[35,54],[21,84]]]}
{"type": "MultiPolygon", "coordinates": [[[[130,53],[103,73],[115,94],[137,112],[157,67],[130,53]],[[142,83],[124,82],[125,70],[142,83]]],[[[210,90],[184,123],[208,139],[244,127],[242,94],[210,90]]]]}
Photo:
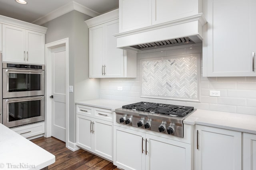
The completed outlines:
{"type": "Polygon", "coordinates": [[[16,133],[22,135],[25,138],[41,135],[45,132],[44,122],[35,123],[32,125],[26,125],[22,127],[16,127],[12,129],[16,133]]]}

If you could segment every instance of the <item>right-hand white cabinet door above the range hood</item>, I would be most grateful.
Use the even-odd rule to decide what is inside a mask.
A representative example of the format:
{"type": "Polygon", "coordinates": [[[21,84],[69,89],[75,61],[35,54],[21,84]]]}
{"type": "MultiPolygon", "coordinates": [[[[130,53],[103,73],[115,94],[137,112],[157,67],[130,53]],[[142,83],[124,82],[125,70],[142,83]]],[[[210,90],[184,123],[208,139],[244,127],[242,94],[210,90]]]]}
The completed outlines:
{"type": "Polygon", "coordinates": [[[198,13],[198,0],[152,0],[152,25],[198,13]]]}

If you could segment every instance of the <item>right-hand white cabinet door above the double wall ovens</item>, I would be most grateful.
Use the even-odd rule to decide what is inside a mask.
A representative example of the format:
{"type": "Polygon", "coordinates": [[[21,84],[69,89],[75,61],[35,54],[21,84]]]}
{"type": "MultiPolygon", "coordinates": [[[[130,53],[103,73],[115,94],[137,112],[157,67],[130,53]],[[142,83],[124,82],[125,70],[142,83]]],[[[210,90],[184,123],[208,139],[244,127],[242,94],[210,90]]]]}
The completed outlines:
{"type": "Polygon", "coordinates": [[[44,64],[44,33],[26,30],[26,63],[44,64]]]}

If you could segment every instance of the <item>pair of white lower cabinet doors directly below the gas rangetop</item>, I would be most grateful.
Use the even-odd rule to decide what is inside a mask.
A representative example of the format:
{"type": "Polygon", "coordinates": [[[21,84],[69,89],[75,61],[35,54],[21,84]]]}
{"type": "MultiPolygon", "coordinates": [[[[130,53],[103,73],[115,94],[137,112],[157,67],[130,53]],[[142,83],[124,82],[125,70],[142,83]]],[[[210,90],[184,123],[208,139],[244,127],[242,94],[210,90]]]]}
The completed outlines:
{"type": "Polygon", "coordinates": [[[125,170],[191,170],[191,145],[114,126],[114,164],[125,170]]]}

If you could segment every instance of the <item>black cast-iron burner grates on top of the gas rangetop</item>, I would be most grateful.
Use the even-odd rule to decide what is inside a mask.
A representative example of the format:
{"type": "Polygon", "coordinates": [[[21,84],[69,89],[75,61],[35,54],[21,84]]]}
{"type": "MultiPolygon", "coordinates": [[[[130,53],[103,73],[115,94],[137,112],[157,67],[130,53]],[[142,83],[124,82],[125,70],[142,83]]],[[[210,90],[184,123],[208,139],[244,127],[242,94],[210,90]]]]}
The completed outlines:
{"type": "Polygon", "coordinates": [[[184,115],[190,113],[190,111],[194,109],[194,107],[189,106],[178,106],[151,102],[138,102],[122,106],[122,108],[179,117],[183,117],[184,115]]]}

